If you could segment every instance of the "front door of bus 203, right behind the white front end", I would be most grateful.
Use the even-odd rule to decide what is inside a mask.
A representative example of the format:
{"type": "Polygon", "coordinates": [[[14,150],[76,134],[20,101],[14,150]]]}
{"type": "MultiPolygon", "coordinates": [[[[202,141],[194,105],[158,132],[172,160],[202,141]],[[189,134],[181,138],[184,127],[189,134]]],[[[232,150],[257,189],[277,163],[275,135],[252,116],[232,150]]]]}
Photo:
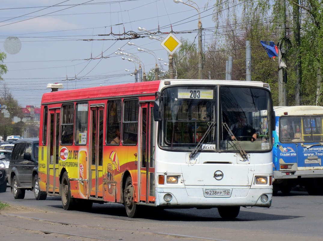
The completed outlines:
{"type": "Polygon", "coordinates": [[[141,103],[140,111],[140,201],[154,203],[156,122],[153,103],[141,103]]]}

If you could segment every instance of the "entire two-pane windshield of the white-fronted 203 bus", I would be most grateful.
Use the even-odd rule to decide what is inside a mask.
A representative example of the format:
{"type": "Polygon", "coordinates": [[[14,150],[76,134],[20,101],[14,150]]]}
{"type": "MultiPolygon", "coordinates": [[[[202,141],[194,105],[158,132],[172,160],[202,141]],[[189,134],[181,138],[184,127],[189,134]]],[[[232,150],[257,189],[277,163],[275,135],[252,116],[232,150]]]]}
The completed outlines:
{"type": "Polygon", "coordinates": [[[271,101],[266,89],[222,86],[218,100],[216,86],[180,86],[166,88],[162,96],[164,120],[160,140],[164,148],[192,150],[209,127],[212,130],[202,140],[206,150],[230,152],[242,147],[250,152],[272,147],[272,132],[268,131],[271,101]],[[244,123],[238,125],[242,118],[244,123]],[[217,119],[222,119],[221,123],[216,123],[217,119]],[[230,130],[234,132],[231,135],[230,130]]]}

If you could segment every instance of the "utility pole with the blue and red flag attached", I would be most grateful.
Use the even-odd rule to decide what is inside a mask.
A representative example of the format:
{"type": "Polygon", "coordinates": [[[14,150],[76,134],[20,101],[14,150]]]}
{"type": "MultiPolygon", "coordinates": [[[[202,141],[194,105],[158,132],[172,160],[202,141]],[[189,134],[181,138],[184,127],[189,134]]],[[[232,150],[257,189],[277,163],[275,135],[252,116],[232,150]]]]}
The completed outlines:
{"type": "MultiPolygon", "coordinates": [[[[286,2],[280,0],[280,25],[278,38],[280,40],[279,48],[282,54],[285,54],[285,44],[283,43],[286,38],[286,2]]],[[[287,106],[286,94],[287,71],[286,69],[278,68],[278,104],[279,106],[287,106]]]]}

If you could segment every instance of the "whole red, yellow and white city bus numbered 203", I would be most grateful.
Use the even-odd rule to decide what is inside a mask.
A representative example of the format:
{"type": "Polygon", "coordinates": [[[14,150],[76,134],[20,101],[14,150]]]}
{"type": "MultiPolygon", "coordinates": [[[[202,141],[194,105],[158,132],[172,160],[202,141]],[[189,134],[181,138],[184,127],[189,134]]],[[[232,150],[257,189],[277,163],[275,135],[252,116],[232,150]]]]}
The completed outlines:
{"type": "Polygon", "coordinates": [[[215,207],[231,219],[241,206],[271,206],[275,115],[268,84],[50,86],[41,102],[39,187],[61,196],[65,210],[115,202],[136,217],[148,207],[215,207]],[[255,118],[265,118],[266,136],[234,136],[241,113],[253,126],[247,132],[259,132],[255,118]]]}

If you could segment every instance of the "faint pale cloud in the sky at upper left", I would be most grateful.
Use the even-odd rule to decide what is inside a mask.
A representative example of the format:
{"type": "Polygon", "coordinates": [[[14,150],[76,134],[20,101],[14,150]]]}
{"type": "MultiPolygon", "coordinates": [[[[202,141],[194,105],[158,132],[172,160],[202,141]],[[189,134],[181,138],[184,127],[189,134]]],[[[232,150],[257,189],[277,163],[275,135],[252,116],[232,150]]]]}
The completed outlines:
{"type": "Polygon", "coordinates": [[[79,29],[77,24],[65,22],[55,17],[36,17],[22,22],[13,21],[13,24],[6,25],[10,22],[3,22],[0,24],[0,29],[3,34],[5,32],[22,34],[31,32],[48,32],[57,30],[79,29]],[[17,22],[17,23],[16,23],[17,22]]]}

